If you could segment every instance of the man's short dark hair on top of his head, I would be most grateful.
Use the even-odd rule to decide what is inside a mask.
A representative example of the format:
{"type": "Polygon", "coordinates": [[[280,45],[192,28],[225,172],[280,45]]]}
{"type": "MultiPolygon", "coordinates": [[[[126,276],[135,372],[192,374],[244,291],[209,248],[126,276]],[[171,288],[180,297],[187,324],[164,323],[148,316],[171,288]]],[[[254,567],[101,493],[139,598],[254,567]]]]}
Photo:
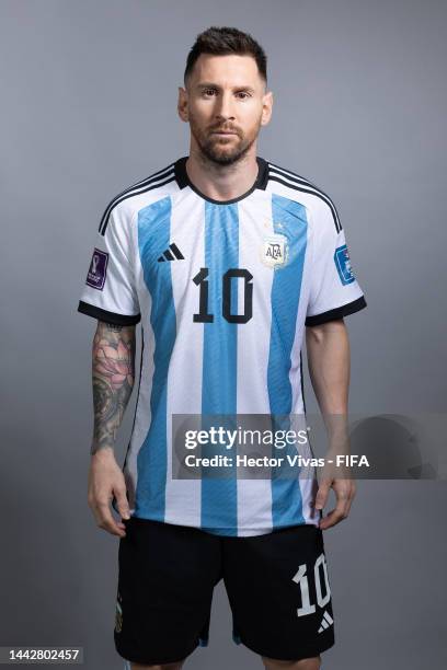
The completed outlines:
{"type": "Polygon", "coordinates": [[[227,56],[228,54],[253,56],[261,78],[264,80],[265,84],[267,83],[267,57],[264,49],[251,35],[242,33],[242,31],[238,28],[211,25],[197,35],[186,59],[184,73],[185,85],[200,54],[213,54],[215,56],[227,56]]]}

